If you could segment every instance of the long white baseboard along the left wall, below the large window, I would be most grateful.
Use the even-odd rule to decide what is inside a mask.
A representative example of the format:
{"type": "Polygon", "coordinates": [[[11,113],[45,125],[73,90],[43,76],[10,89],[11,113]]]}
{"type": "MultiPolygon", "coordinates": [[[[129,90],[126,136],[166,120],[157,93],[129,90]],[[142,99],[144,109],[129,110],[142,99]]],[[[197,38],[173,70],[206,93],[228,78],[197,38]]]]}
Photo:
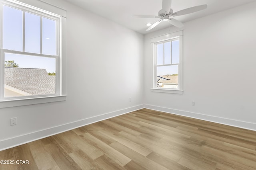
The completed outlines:
{"type": "Polygon", "coordinates": [[[41,131],[36,131],[36,132],[28,133],[28,134],[25,134],[25,135],[20,135],[20,136],[13,137],[13,138],[10,138],[10,139],[4,139],[4,140],[0,141],[0,151],[5,150],[5,149],[9,149],[9,148],[12,148],[12,147],[16,147],[16,146],[19,146],[19,145],[23,145],[25,143],[29,143],[29,142],[32,142],[32,141],[36,141],[38,139],[42,139],[42,138],[45,138],[45,137],[56,135],[58,133],[62,133],[62,132],[65,132],[65,131],[76,129],[76,128],[82,127],[84,125],[88,125],[88,124],[91,124],[91,123],[95,123],[95,122],[98,122],[98,121],[109,119],[111,117],[116,117],[118,115],[123,115],[125,113],[129,113],[129,112],[132,112],[132,111],[143,109],[143,108],[144,108],[143,104],[138,105],[138,106],[128,107],[126,109],[121,109],[121,110],[105,113],[105,114],[102,114],[102,115],[89,117],[89,118],[86,118],[86,119],[82,119],[82,120],[79,120],[79,121],[74,121],[74,122],[67,123],[67,124],[64,124],[64,125],[51,127],[49,129],[44,129],[44,130],[41,130],[41,131]]]}

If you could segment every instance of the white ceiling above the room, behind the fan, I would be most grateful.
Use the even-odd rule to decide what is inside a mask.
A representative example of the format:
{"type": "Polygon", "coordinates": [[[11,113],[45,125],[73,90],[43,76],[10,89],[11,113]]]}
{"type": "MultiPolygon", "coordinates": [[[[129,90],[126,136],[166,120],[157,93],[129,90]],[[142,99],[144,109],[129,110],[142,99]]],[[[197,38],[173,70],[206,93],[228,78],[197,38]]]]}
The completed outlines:
{"type": "MultiPolygon", "coordinates": [[[[146,23],[154,23],[158,18],[135,18],[132,15],[158,15],[162,9],[162,0],[67,0],[85,10],[93,12],[104,18],[112,20],[120,25],[128,27],[142,34],[150,33],[170,26],[168,22],[162,22],[150,31],[145,31],[146,23]]],[[[172,0],[173,12],[207,4],[208,8],[192,14],[177,16],[175,19],[182,21],[194,20],[203,16],[214,14],[226,9],[234,8],[242,4],[256,0],[172,0]]]]}

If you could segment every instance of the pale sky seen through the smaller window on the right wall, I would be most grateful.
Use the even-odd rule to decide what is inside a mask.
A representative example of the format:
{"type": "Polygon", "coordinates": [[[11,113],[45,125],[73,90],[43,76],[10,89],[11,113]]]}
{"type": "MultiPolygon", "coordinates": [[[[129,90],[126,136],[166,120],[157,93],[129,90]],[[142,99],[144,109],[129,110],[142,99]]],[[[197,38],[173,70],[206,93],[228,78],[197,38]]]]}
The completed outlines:
{"type": "MultiPolygon", "coordinates": [[[[156,48],[157,65],[179,63],[179,40],[158,44],[156,48]]],[[[158,76],[166,74],[178,74],[178,65],[157,67],[158,76]]]]}

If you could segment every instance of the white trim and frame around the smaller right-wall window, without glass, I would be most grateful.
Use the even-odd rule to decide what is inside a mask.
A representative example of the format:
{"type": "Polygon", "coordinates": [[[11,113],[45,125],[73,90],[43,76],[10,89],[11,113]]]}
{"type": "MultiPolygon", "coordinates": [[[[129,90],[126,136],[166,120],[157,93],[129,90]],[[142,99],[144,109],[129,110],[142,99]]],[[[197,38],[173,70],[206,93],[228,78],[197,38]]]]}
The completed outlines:
{"type": "Polygon", "coordinates": [[[153,44],[153,88],[151,88],[151,92],[161,92],[161,93],[174,93],[174,94],[183,94],[183,30],[177,31],[174,33],[168,33],[165,35],[161,35],[158,37],[154,37],[151,39],[151,43],[153,44]],[[156,45],[159,43],[164,43],[168,41],[174,41],[175,39],[179,39],[180,45],[180,61],[179,64],[164,64],[164,65],[178,65],[178,89],[174,88],[158,88],[157,87],[157,65],[156,64],[156,45]]]}

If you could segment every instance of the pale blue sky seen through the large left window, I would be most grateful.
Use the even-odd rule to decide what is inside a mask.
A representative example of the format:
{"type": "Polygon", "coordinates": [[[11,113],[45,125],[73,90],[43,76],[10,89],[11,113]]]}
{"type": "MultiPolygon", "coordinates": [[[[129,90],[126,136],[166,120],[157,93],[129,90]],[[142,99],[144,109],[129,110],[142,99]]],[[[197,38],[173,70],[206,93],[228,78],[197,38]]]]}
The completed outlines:
{"type": "MultiPolygon", "coordinates": [[[[40,54],[40,16],[25,12],[24,52],[40,54]]],[[[3,49],[23,51],[23,12],[3,6],[3,49]]],[[[56,55],[56,21],[42,17],[42,54],[56,55]]],[[[54,57],[5,53],[4,61],[14,61],[21,68],[45,68],[56,72],[54,57]]]]}

